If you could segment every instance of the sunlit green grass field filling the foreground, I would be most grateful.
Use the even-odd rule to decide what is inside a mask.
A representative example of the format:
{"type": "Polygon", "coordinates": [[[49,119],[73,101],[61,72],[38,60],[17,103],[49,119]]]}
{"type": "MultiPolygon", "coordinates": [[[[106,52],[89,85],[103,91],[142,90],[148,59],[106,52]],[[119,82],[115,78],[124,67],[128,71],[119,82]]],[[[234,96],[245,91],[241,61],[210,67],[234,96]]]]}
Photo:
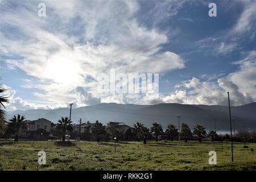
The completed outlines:
{"type": "Polygon", "coordinates": [[[224,142],[28,142],[0,141],[1,170],[256,170],[256,143],[224,142]],[[254,148],[254,153],[251,153],[254,148]],[[39,151],[46,152],[46,164],[38,165],[39,151]],[[217,164],[210,165],[209,151],[217,152],[217,164]]]}

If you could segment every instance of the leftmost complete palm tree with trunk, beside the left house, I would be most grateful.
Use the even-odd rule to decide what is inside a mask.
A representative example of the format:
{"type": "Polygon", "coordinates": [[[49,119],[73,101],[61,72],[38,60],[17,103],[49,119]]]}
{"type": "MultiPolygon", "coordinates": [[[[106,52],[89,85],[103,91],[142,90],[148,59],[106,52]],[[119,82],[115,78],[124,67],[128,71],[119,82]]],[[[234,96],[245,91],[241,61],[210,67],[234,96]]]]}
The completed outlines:
{"type": "Polygon", "coordinates": [[[18,142],[20,128],[27,127],[25,117],[24,117],[24,115],[20,116],[20,114],[18,114],[17,117],[16,117],[16,115],[14,115],[14,117],[11,118],[9,121],[10,122],[8,123],[8,127],[10,127],[11,129],[13,129],[15,131],[15,140],[16,140],[16,142],[18,142]]]}

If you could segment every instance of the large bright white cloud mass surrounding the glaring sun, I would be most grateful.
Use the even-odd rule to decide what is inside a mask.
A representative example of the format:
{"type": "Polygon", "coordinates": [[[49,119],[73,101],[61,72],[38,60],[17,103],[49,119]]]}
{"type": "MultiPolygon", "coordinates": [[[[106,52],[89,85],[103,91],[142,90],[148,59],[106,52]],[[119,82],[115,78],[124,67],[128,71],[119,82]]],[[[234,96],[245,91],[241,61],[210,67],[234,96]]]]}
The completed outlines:
{"type": "Polygon", "coordinates": [[[12,57],[6,60],[10,68],[20,68],[38,80],[23,87],[39,88],[41,92],[34,96],[46,105],[65,106],[65,102],[76,101],[77,97],[78,105],[97,103],[101,95],[96,92],[96,78],[110,68],[121,73],[184,68],[179,55],[162,51],[163,44],[168,42],[165,32],[138,23],[134,15],[141,7],[137,2],[45,3],[45,18],[37,16],[34,3],[25,2],[12,9],[9,2],[2,3],[1,24],[13,27],[23,38],[18,34],[10,38],[3,32],[0,51],[12,57]],[[19,59],[15,60],[13,53],[19,59]],[[93,96],[70,94],[77,86],[89,88],[93,96]]]}

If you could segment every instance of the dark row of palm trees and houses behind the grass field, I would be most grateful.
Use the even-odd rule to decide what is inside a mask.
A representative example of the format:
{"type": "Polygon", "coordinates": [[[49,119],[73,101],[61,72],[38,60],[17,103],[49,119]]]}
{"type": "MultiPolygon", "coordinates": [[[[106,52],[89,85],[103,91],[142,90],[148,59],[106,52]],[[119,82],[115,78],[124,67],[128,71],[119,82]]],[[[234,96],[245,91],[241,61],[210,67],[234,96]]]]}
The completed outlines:
{"type": "MultiPolygon", "coordinates": [[[[64,119],[64,118],[63,118],[64,119]]],[[[229,141],[230,135],[218,135],[216,131],[210,130],[208,133],[201,125],[196,125],[193,129],[189,129],[188,125],[182,123],[181,131],[174,126],[168,125],[166,131],[163,131],[162,125],[153,123],[151,128],[145,127],[142,123],[136,123],[133,127],[126,125],[123,122],[110,121],[106,126],[101,122],[82,122],[74,124],[65,118],[66,128],[63,131],[63,125],[58,127],[59,123],[53,123],[45,118],[38,118],[34,121],[23,121],[22,126],[18,127],[18,132],[13,130],[14,127],[7,127],[5,134],[1,138],[15,138],[18,137],[24,140],[61,140],[65,134],[64,140],[219,140],[229,141]],[[180,134],[179,134],[180,133],[180,134]],[[18,135],[18,136],[17,136],[18,135]]],[[[60,122],[60,121],[59,121],[60,122]]],[[[9,123],[10,125],[10,123],[9,123]]],[[[8,125],[7,125],[8,126],[8,125]]],[[[237,132],[234,134],[234,140],[237,142],[256,142],[255,131],[252,133],[237,132]]]]}

